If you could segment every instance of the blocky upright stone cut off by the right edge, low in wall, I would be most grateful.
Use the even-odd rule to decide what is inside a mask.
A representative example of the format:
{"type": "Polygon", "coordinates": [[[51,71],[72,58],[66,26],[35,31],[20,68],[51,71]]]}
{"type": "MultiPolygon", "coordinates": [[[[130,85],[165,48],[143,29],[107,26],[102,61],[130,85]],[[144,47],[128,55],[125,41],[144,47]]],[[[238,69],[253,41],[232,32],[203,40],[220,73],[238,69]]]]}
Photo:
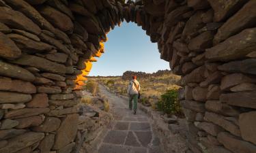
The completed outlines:
{"type": "Polygon", "coordinates": [[[241,130],[242,138],[246,141],[250,141],[256,145],[256,112],[247,112],[240,114],[239,116],[239,127],[241,130]]]}

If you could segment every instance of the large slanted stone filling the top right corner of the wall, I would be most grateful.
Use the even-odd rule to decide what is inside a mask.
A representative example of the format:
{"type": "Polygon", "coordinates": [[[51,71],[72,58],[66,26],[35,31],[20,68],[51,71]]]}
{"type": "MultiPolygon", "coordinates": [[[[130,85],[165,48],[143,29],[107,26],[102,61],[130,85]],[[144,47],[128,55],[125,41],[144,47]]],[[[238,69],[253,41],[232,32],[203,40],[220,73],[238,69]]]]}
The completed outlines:
{"type": "MultiPolygon", "coordinates": [[[[242,6],[241,3],[245,3],[247,0],[239,0],[232,1],[231,3],[225,2],[229,7],[233,7],[233,4],[236,4],[236,8],[238,6],[242,6]]],[[[214,2],[213,2],[214,3],[214,2]]],[[[218,7],[220,7],[219,5],[218,7]]],[[[248,1],[241,10],[236,12],[227,22],[223,24],[221,28],[218,29],[218,33],[214,36],[214,44],[218,44],[221,41],[231,37],[232,35],[236,35],[240,33],[243,29],[253,28],[255,27],[255,18],[256,18],[256,2],[248,1]]],[[[216,14],[218,14],[216,12],[216,14]]]]}

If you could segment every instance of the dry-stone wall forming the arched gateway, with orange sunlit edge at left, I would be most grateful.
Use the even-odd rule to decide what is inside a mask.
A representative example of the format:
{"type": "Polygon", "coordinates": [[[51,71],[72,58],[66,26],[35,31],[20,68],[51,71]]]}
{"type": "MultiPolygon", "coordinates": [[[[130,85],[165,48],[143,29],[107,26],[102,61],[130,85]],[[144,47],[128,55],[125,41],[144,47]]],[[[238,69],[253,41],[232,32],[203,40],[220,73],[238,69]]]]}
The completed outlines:
{"type": "Polygon", "coordinates": [[[190,152],[256,152],[255,0],[0,6],[1,153],[79,152],[79,82],[103,53],[106,33],[124,20],[141,26],[182,75],[190,152]]]}

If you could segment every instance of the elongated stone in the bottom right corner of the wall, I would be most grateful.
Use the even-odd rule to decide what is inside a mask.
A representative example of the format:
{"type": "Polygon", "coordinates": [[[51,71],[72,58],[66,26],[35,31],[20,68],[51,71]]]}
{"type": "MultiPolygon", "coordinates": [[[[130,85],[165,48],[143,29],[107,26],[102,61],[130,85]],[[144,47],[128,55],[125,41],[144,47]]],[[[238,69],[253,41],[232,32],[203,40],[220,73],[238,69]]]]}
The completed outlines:
{"type": "Polygon", "coordinates": [[[218,134],[218,141],[220,141],[225,148],[232,152],[243,153],[255,153],[256,146],[247,141],[242,141],[238,137],[235,137],[227,132],[221,132],[218,134]]]}

